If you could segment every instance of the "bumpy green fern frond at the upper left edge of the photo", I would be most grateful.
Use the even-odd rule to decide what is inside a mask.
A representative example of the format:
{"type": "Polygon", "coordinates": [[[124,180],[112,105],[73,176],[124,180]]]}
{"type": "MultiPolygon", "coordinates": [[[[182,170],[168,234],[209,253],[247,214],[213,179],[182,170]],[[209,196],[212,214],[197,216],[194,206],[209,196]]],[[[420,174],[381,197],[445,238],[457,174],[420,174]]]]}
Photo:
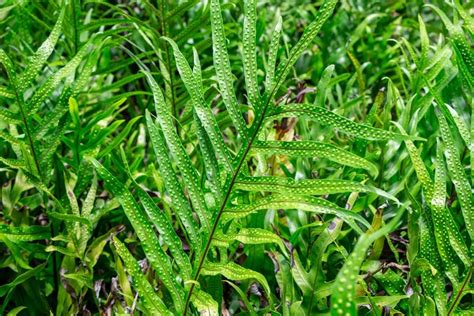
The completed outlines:
{"type": "MultiPolygon", "coordinates": [[[[32,119],[46,98],[60,85],[64,78],[74,75],[77,67],[82,62],[84,57],[90,53],[96,39],[90,40],[86,43],[64,67],[59,69],[51,75],[39,88],[37,88],[31,97],[24,99],[26,89],[35,79],[38,71],[44,67],[46,60],[52,54],[54,46],[58,41],[61,27],[64,22],[64,9],[60,12],[58,20],[51,31],[50,36],[38,48],[38,50],[30,57],[30,62],[26,65],[25,70],[21,75],[17,75],[17,70],[11,59],[4,50],[0,50],[0,63],[3,65],[8,74],[10,89],[9,95],[14,96],[15,103],[11,108],[1,109],[1,117],[13,126],[21,128],[25,135],[25,140],[21,140],[17,135],[2,132],[3,139],[10,142],[16,148],[17,160],[4,159],[3,162],[14,169],[22,169],[27,174],[40,179],[47,183],[47,179],[51,177],[49,173],[51,170],[51,157],[54,154],[56,147],[59,145],[59,136],[64,129],[64,123],[60,123],[61,118],[67,111],[68,100],[70,97],[77,95],[83,88],[85,81],[92,71],[93,64],[86,63],[83,68],[82,77],[79,76],[77,81],[72,85],[63,89],[58,106],[49,113],[48,122],[56,124],[55,129],[49,128],[40,122],[35,127],[35,121],[32,119]],[[58,124],[60,123],[60,124],[58,124]]],[[[94,60],[96,55],[92,54],[91,59],[94,60]]],[[[51,126],[51,125],[50,125],[51,126]]]]}

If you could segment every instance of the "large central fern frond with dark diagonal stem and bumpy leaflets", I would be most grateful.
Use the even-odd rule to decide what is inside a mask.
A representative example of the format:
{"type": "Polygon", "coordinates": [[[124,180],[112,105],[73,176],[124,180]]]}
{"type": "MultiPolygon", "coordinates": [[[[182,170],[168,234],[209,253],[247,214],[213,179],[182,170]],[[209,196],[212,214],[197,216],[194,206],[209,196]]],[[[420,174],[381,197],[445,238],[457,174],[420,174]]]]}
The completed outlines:
{"type": "MultiPolygon", "coordinates": [[[[411,139],[411,137],[395,132],[351,122],[321,107],[310,105],[273,105],[273,98],[279,86],[285,80],[298,57],[316,36],[321,26],[331,16],[336,4],[337,1],[326,1],[323,4],[318,11],[315,21],[307,27],[302,38],[289,52],[289,57],[277,67],[276,75],[272,75],[275,62],[271,62],[270,68],[267,69],[266,87],[263,95],[261,95],[255,63],[257,53],[255,45],[256,3],[254,1],[246,1],[242,55],[248,105],[255,111],[254,122],[247,126],[243,120],[242,112],[237,105],[237,98],[233,88],[233,77],[225,44],[226,38],[220,3],[218,0],[211,1],[210,14],[214,66],[220,88],[219,91],[227,108],[227,114],[241,139],[240,149],[235,155],[228,150],[222,136],[222,131],[219,128],[219,123],[216,121],[210,105],[203,97],[198,55],[194,54],[194,68],[192,69],[178,45],[172,39],[164,37],[164,40],[172,48],[176,67],[190,96],[194,123],[198,131],[199,146],[205,162],[205,171],[203,172],[207,174],[204,177],[206,180],[201,183],[198,181],[201,177],[199,171],[188,156],[179,134],[176,132],[173,118],[175,114],[170,110],[170,108],[173,108],[172,100],[165,97],[162,93],[148,67],[132,55],[145,74],[153,92],[156,120],[152,118],[150,113],[146,114],[148,132],[155,148],[160,171],[165,180],[166,190],[171,198],[174,212],[183,224],[187,240],[192,245],[192,251],[189,254],[184,254],[180,251],[175,232],[171,227],[165,227],[167,226],[166,221],[161,219],[163,215],[160,215],[160,210],[156,209],[152,200],[144,191],[137,187],[141,201],[140,205],[123,184],[120,184],[98,162],[94,162],[94,164],[99,175],[106,181],[106,186],[122,204],[129,220],[138,233],[150,264],[157,272],[158,277],[163,281],[167,291],[169,291],[173,299],[173,305],[168,305],[167,308],[171,312],[186,314],[189,311],[190,302],[201,312],[205,312],[205,309],[213,310],[211,305],[218,304],[218,302],[212,304],[208,302],[207,305],[203,305],[199,297],[206,294],[202,290],[199,291],[200,294],[196,292],[201,276],[206,275],[222,275],[230,280],[254,279],[264,288],[270,303],[269,307],[272,308],[271,302],[274,294],[271,293],[263,275],[227,261],[226,255],[221,251],[219,251],[220,261],[215,261],[215,250],[225,247],[234,239],[249,244],[275,242],[281,249],[284,249],[281,241],[276,236],[266,235],[264,232],[259,233],[255,231],[253,234],[249,234],[250,231],[245,229],[227,232],[228,228],[226,227],[232,226],[232,223],[238,218],[247,216],[258,209],[300,209],[309,212],[334,214],[346,220],[355,230],[362,233],[357,222],[368,227],[368,223],[363,218],[351,211],[340,209],[325,200],[312,198],[310,195],[341,192],[374,192],[375,194],[391,198],[390,195],[379,189],[348,180],[308,179],[295,181],[291,178],[254,177],[248,175],[249,170],[246,168],[245,162],[251,159],[251,153],[270,153],[322,156],[337,163],[354,168],[363,168],[374,175],[377,174],[378,170],[371,162],[357,155],[344,152],[342,149],[327,143],[306,141],[285,144],[282,142],[260,141],[260,135],[263,136],[263,131],[265,130],[264,123],[269,119],[279,117],[308,114],[311,117],[320,119],[324,124],[369,140],[411,139]],[[180,184],[180,178],[176,176],[177,171],[175,171],[175,168],[179,170],[182,184],[180,184]],[[284,185],[282,185],[283,183],[284,185]],[[236,198],[238,199],[242,194],[239,193],[241,190],[280,193],[294,192],[302,196],[301,198],[295,197],[294,201],[290,201],[288,197],[279,199],[278,195],[271,194],[266,198],[256,199],[250,205],[236,204],[236,198]],[[208,198],[208,194],[212,195],[211,200],[208,198]],[[193,213],[197,215],[198,220],[193,216],[193,213]],[[168,255],[169,257],[162,252],[161,247],[157,244],[156,235],[151,228],[152,223],[157,225],[160,235],[164,238],[165,243],[170,246],[171,253],[168,255]],[[176,263],[176,268],[182,280],[181,284],[177,283],[175,276],[171,274],[171,271],[174,270],[169,261],[171,257],[176,263]]],[[[280,23],[277,23],[277,29],[280,23]]],[[[278,32],[275,36],[276,39],[272,42],[270,51],[272,60],[276,58],[276,51],[278,49],[278,32]]],[[[139,293],[147,295],[148,290],[146,288],[148,285],[143,287],[138,283],[136,285],[140,287],[137,289],[139,293]]],[[[146,296],[144,296],[144,299],[147,300],[146,296]]]]}

